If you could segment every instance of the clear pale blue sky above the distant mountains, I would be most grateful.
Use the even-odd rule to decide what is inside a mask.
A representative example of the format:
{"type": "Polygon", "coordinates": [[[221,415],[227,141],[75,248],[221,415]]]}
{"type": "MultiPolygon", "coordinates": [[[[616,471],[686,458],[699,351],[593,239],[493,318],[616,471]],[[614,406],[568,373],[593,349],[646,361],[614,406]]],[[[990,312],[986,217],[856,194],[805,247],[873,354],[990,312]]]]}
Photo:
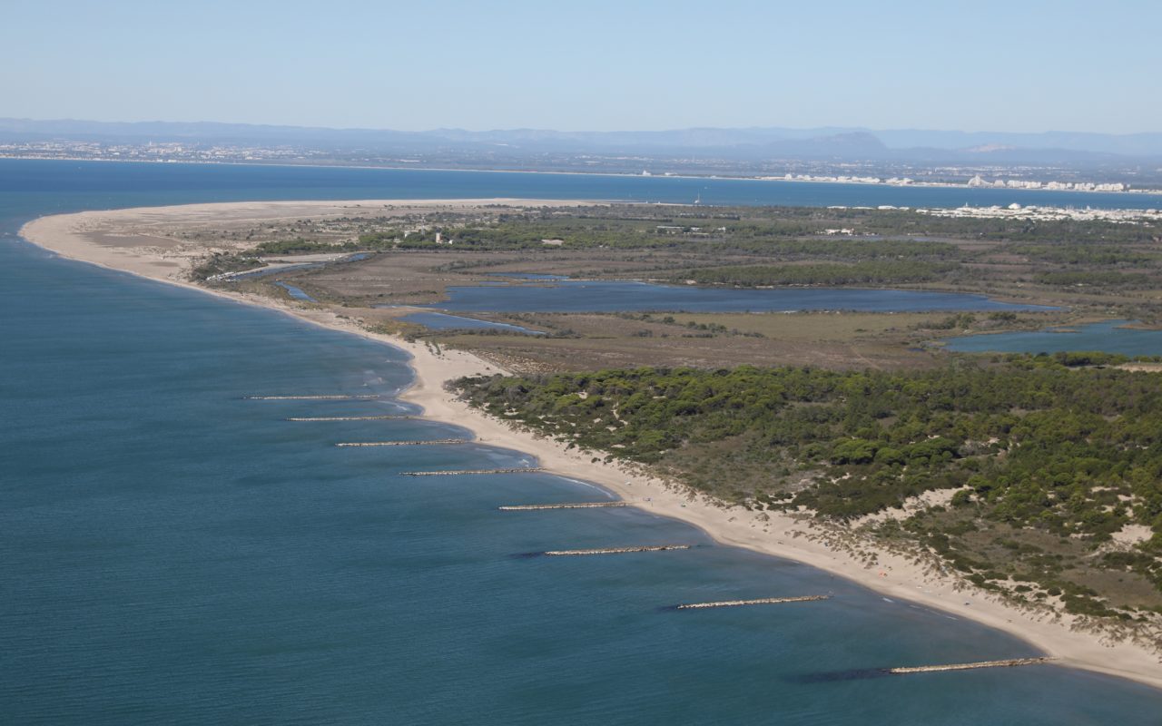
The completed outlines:
{"type": "Polygon", "coordinates": [[[0,116],[1162,130],[1162,0],[3,0],[0,116]]]}

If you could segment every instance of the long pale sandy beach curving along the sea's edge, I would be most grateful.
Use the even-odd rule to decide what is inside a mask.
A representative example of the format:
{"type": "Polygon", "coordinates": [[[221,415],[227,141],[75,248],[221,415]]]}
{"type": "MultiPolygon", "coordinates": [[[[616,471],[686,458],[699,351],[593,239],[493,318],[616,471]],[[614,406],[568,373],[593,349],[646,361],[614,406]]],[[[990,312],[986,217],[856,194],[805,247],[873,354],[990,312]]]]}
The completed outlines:
{"type": "MultiPolygon", "coordinates": [[[[473,204],[565,206],[593,202],[530,201],[530,200],[432,200],[432,201],[363,201],[363,202],[253,202],[225,204],[191,204],[129,209],[119,211],[85,211],[71,215],[41,217],[24,225],[21,235],[63,257],[105,267],[128,271],[138,275],[184,287],[191,287],[222,297],[272,308],[310,323],[342,330],[364,338],[401,347],[410,353],[415,382],[402,398],[424,408],[424,416],[465,426],[481,443],[536,455],[546,470],[564,476],[595,482],[625,498],[634,506],[654,515],[687,522],[706,532],[716,541],[745,547],[755,552],[796,560],[866,585],[882,595],[930,606],[954,617],[976,620],[1013,634],[1047,655],[1060,659],[1066,666],[1106,673],[1162,688],[1162,659],[1147,647],[1129,642],[1111,642],[1092,632],[1071,630],[1074,619],[1026,612],[1010,606],[987,592],[966,588],[940,575],[912,558],[873,549],[860,544],[858,552],[837,542],[826,530],[787,515],[759,513],[741,508],[724,508],[705,497],[691,494],[680,486],[643,475],[627,467],[594,462],[594,453],[568,451],[564,444],[517,431],[508,423],[492,418],[466,403],[457,401],[444,390],[444,383],[466,375],[505,373],[495,365],[461,351],[437,353],[430,346],[411,344],[403,339],[367,332],[354,321],[340,318],[331,310],[267,297],[208,290],[182,279],[189,261],[205,247],[196,245],[159,243],[142,244],[148,230],[178,224],[223,221],[258,221],[301,218],[322,215],[379,215],[385,204],[395,209],[431,207],[469,207],[473,204]],[[358,206],[358,207],[357,207],[358,206]],[[112,233],[121,230],[129,238],[124,245],[114,244],[112,233]],[[175,266],[175,263],[178,265],[175,266]],[[826,540],[826,541],[825,541],[826,540]],[[832,542],[829,545],[827,542],[832,542]],[[875,565],[867,565],[865,554],[873,553],[875,565]]],[[[528,502],[510,502],[525,504],[528,502]]],[[[518,526],[518,525],[517,525],[518,526]]],[[[555,542],[567,547],[571,542],[555,542]]],[[[633,545],[634,542],[612,542],[633,545]]],[[[772,592],[772,596],[811,595],[801,592],[772,592]]]]}

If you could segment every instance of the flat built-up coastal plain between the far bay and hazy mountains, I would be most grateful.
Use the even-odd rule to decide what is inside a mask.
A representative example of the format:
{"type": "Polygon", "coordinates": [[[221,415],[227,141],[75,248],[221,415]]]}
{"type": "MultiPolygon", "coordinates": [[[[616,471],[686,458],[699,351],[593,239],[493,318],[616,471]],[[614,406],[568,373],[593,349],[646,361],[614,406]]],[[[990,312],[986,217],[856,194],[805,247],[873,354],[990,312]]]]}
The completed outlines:
{"type": "Polygon", "coordinates": [[[1142,164],[933,164],[895,159],[719,158],[713,154],[581,153],[505,145],[346,149],[313,144],[193,141],[5,141],[0,158],[507,170],[659,177],[723,177],[891,186],[967,186],[1064,192],[1162,192],[1162,168],[1142,164]]]}

